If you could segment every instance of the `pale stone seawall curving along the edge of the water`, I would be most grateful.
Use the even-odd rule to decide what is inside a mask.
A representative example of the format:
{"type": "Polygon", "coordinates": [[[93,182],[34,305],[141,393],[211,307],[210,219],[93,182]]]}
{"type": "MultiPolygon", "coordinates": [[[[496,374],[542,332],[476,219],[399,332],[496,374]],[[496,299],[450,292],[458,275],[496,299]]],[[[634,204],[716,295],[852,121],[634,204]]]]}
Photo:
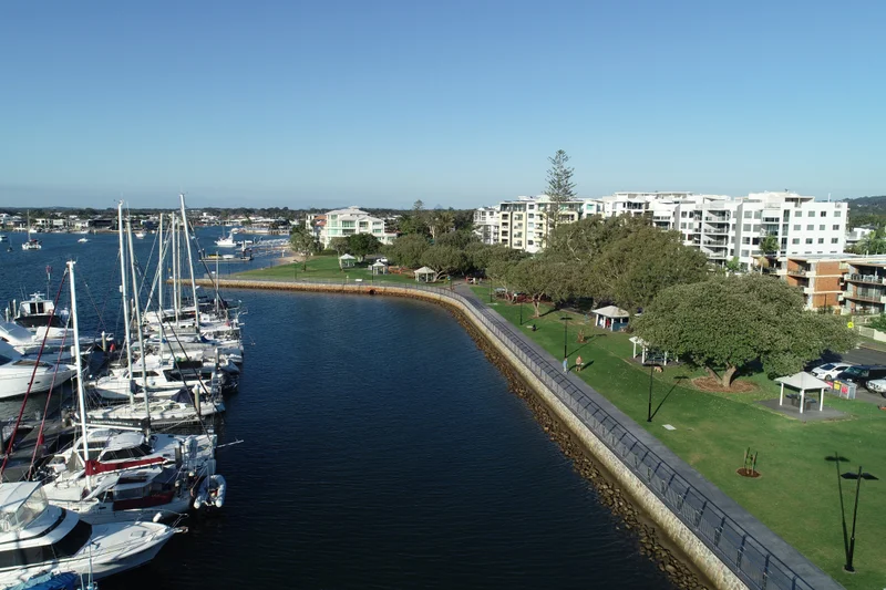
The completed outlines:
{"type": "MultiPolygon", "coordinates": [[[[464,298],[455,296],[450,291],[443,289],[416,289],[408,286],[396,286],[391,283],[373,284],[373,283],[344,283],[344,282],[284,282],[284,281],[265,281],[265,280],[220,280],[219,287],[226,289],[268,289],[268,290],[289,290],[289,291],[312,291],[312,292],[339,292],[363,296],[395,296],[408,297],[415,299],[424,299],[437,303],[445,304],[455,310],[456,315],[462,317],[468,321],[478,334],[481,334],[492,346],[495,352],[504,359],[507,364],[519,375],[519,379],[526,383],[538,398],[544,403],[547,411],[550,412],[556,421],[568,429],[571,438],[577,441],[580,446],[594,457],[596,462],[616,480],[618,487],[624,490],[630,500],[638,506],[642,513],[656,525],[657,529],[663,532],[669,540],[679,548],[679,550],[689,559],[701,572],[701,575],[711,581],[711,583],[719,589],[738,590],[748,588],[741,578],[723,562],[714,551],[705,545],[687,525],[674,514],[671,508],[659,499],[659,497],[649,488],[647,483],[640,479],[624,460],[618,457],[610,449],[604,441],[601,441],[576,413],[568,407],[555,392],[540,380],[529,366],[527,366],[512,350],[505,345],[498,335],[493,333],[492,330],[478,317],[475,308],[465,303],[464,298]]],[[[212,286],[212,281],[203,279],[198,281],[199,284],[212,286]]],[[[460,318],[460,319],[462,319],[460,318]]],[[[473,335],[473,334],[472,334],[473,335]]],[[[640,431],[641,428],[633,424],[640,431]]],[[[557,438],[555,436],[555,438],[557,438]]],[[[567,435],[567,438],[569,436],[567,435]]],[[[559,441],[558,441],[559,442],[559,441]]],[[[567,441],[568,444],[568,441],[567,441]]],[[[563,445],[562,445],[563,446],[563,445]]],[[[575,457],[573,457],[575,459],[575,457]]],[[[709,484],[710,485],[710,484],[709,484]]],[[[616,499],[612,504],[618,504],[620,500],[616,499]]],[[[733,503],[734,504],[734,503],[733,503]]],[[[744,521],[753,519],[750,515],[744,513],[739,515],[744,521]]],[[[759,525],[759,522],[756,522],[759,525]]],[[[762,525],[759,525],[762,527],[762,525]]],[[[765,529],[767,531],[767,529],[765,529]]],[[[769,534],[777,539],[781,544],[780,548],[787,547],[783,540],[777,538],[774,534],[769,534]]],[[[649,550],[653,553],[662,569],[666,569],[674,582],[684,587],[699,586],[699,580],[693,580],[691,573],[686,571],[686,568],[674,568],[674,562],[668,559],[667,551],[662,556],[656,550],[649,550]],[[677,571],[674,571],[674,569],[677,571]]],[[[793,553],[800,556],[796,550],[790,548],[793,553]]],[[[795,556],[790,556],[796,560],[795,556]]],[[[802,556],[800,556],[802,558],[802,556]]],[[[804,558],[803,558],[804,559],[804,558]]],[[[815,583],[814,587],[818,588],[841,588],[832,579],[827,578],[821,570],[817,570],[812,563],[805,561],[801,566],[808,566],[808,570],[815,576],[817,580],[823,583],[815,583]],[[824,583],[828,582],[828,583],[824,583]]],[[[792,566],[796,567],[792,563],[792,566]]],[[[774,580],[772,580],[774,582],[774,580]]],[[[766,582],[764,581],[764,584],[766,582]]],[[[776,587],[772,583],[772,587],[776,587]]],[[[799,586],[799,588],[805,584],[799,586]]]]}

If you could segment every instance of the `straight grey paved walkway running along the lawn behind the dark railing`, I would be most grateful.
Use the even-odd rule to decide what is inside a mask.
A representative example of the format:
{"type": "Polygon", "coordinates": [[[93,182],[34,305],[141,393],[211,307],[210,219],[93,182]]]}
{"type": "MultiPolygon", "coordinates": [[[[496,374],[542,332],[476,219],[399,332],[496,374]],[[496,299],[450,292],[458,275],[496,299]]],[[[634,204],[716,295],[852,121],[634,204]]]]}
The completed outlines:
{"type": "MultiPolygon", "coordinates": [[[[697,535],[699,535],[699,527],[702,527],[703,529],[704,515],[707,514],[710,505],[713,505],[713,507],[719,509],[718,511],[722,511],[728,519],[731,520],[731,522],[723,524],[721,526],[721,530],[713,535],[712,538],[717,539],[718,545],[712,545],[710,538],[704,538],[702,535],[699,535],[699,538],[715,553],[725,557],[727,559],[724,559],[724,562],[729,563],[733,571],[735,571],[735,573],[745,583],[748,583],[749,587],[762,588],[767,583],[765,578],[759,579],[758,576],[755,576],[755,573],[759,573],[758,568],[754,567],[748,569],[748,567],[752,566],[752,563],[750,557],[746,556],[764,549],[769,555],[758,556],[758,559],[762,557],[765,563],[769,563],[769,566],[766,566],[770,568],[767,571],[769,587],[792,588],[790,582],[783,578],[784,573],[786,572],[776,572],[771,569],[774,561],[773,558],[775,558],[786,566],[791,571],[793,571],[793,573],[799,578],[793,580],[795,583],[793,588],[842,588],[842,586],[828,577],[824,571],[812,563],[808,559],[803,557],[793,546],[785,542],[784,539],[775,535],[760,520],[748,513],[748,510],[739,506],[732,498],[727,496],[717,486],[708,482],[693,467],[673,454],[668,447],[659,442],[658,438],[640,427],[636,422],[633,422],[633,420],[622,413],[618,407],[612,405],[606,397],[595,391],[590,385],[581,381],[571,372],[564,373],[563,359],[558,361],[548,354],[547,351],[532,341],[527,334],[523,333],[519,329],[511,324],[502,315],[495,312],[494,309],[490,308],[484,301],[478,299],[473,291],[471,291],[467,284],[457,283],[455,286],[455,292],[463,296],[468,303],[476,309],[476,311],[492,321],[496,328],[506,334],[506,337],[511,339],[527,356],[535,359],[535,362],[542,366],[542,370],[546,373],[547,380],[563,386],[567,394],[574,398],[576,405],[585,406],[587,404],[587,400],[590,400],[596,406],[601,408],[607,414],[607,416],[604,417],[605,421],[614,420],[616,422],[615,425],[609,427],[610,432],[614,429],[624,428],[630,433],[633,439],[645,445],[649,451],[652,452],[651,454],[655,455],[655,457],[667,464],[670,470],[678,474],[680,478],[682,478],[697,493],[700,494],[700,496],[703,498],[703,504],[701,505],[700,513],[697,513],[701,515],[701,518],[697,522],[689,522],[686,514],[674,513],[681,520],[683,520],[683,522],[687,524],[687,526],[690,527],[690,529],[696,530],[697,535]],[[727,529],[734,530],[736,527],[740,535],[742,535],[740,531],[744,531],[743,536],[740,537],[739,540],[728,540],[725,538],[728,532],[727,529]],[[750,542],[751,540],[755,542],[750,542]],[[735,550],[731,551],[730,553],[732,556],[738,555],[738,563],[735,562],[734,557],[730,558],[729,555],[723,553],[724,544],[727,546],[730,544],[738,546],[735,550]],[[789,586],[782,586],[782,583],[785,582],[789,583],[789,586]]],[[[595,428],[587,422],[586,418],[577,413],[576,415],[578,415],[583,423],[587,425],[589,431],[595,432],[595,428]]],[[[602,442],[610,448],[612,448],[612,445],[616,444],[612,441],[602,442]]],[[[628,467],[636,473],[636,468],[633,466],[628,465],[628,467]]],[[[660,467],[656,467],[655,469],[658,470],[659,468],[660,467]]],[[[650,489],[652,489],[652,491],[659,497],[662,497],[658,490],[651,487],[650,489]]],[[[664,498],[662,498],[662,500],[664,500],[664,498]]],[[[688,500],[689,493],[686,493],[684,499],[681,504],[686,504],[688,500]]],[[[666,501],[666,505],[671,506],[672,503],[666,501]]],[[[760,567],[763,567],[762,562],[760,563],[760,567]]]]}

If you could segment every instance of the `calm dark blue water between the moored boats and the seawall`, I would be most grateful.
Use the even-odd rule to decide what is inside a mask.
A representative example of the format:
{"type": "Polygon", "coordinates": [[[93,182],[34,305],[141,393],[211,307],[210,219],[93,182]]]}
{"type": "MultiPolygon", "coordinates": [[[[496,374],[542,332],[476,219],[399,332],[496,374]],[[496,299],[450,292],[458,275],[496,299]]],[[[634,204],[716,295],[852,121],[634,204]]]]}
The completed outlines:
{"type": "MultiPolygon", "coordinates": [[[[116,297],[104,240],[81,256],[96,300],[116,297]]],[[[0,296],[80,250],[0,252],[0,296]]],[[[218,452],[226,507],[103,589],[669,587],[444,310],[228,294],[250,344],[220,433],[244,441],[218,452]]]]}

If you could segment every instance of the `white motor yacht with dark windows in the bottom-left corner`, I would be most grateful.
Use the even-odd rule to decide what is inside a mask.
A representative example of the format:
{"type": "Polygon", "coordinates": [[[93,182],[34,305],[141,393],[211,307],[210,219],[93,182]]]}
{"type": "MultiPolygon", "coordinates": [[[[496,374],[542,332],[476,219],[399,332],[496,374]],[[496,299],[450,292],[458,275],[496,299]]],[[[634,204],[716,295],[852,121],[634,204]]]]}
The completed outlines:
{"type": "Polygon", "coordinates": [[[102,579],[147,563],[177,529],[158,522],[92,526],[52,506],[40,484],[0,484],[0,586],[39,573],[102,579]]]}

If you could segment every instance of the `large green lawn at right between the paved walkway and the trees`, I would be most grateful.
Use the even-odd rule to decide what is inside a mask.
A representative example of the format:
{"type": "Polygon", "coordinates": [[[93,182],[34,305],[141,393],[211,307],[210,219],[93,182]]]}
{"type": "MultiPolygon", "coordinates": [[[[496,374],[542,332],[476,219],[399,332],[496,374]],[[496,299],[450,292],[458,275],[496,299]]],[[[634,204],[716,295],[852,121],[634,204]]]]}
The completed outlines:
{"type": "MultiPolygon", "coordinates": [[[[475,288],[488,301],[488,289],[475,288]]],[[[508,321],[519,323],[519,306],[496,300],[493,308],[508,321]]],[[[543,313],[548,311],[543,309],[543,313]]],[[[523,328],[556,359],[563,358],[564,322],[568,322],[567,345],[570,364],[580,354],[590,363],[578,375],[616,404],[642,427],[663,442],[704,477],[729,494],[766,526],[796,547],[846,588],[886,587],[886,551],[880,547],[886,531],[886,411],[876,405],[827,396],[825,405],[846,413],[845,420],[802,423],[755,404],[779,395],[777,384],[762,374],[751,380],[752,393],[705,393],[688,379],[702,374],[684,366],[668,366],[653,375],[652,408],[661,403],[652,423],[647,423],[649,371],[628,362],[629,335],[611,333],[584,324],[584,317],[560,311],[532,319],[532,307],[524,306],[525,325],[535,322],[536,332],[523,328]],[[588,341],[577,343],[585,328],[588,341]],[[676,426],[667,431],[663,424],[676,426]],[[745,448],[759,452],[758,479],[740,477],[745,448]],[[843,571],[844,550],[839,517],[836,466],[825,457],[839,452],[849,459],[843,472],[865,472],[880,482],[864,482],[858,507],[854,566],[855,575],[843,571]]],[[[886,404],[886,400],[884,400],[886,404]]],[[[848,525],[855,482],[843,480],[848,525]]]]}

